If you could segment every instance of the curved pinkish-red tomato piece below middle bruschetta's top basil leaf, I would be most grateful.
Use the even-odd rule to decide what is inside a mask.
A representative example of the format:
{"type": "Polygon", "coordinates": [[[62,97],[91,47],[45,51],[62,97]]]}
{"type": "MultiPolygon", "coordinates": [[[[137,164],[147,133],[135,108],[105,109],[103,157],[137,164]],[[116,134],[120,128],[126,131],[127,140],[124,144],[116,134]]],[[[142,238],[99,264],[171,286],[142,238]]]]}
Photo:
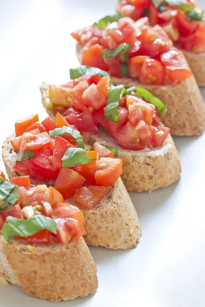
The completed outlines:
{"type": "Polygon", "coordinates": [[[73,105],[77,109],[83,109],[86,105],[86,100],[82,97],[84,92],[88,89],[89,84],[86,80],[80,81],[71,90],[71,95],[73,98],[73,105]]]}

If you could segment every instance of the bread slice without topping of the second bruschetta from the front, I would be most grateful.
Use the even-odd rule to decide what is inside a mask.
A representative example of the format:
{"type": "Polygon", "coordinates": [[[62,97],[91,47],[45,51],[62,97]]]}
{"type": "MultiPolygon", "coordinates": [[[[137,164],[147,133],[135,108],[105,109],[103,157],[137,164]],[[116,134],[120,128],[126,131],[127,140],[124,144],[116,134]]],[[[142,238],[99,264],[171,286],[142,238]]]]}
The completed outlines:
{"type": "MultiPolygon", "coordinates": [[[[16,153],[10,143],[14,136],[14,134],[8,136],[2,147],[2,156],[9,179],[19,176],[14,170],[16,153]]],[[[53,180],[41,182],[32,178],[31,183],[48,186],[55,184],[53,180]]],[[[72,201],[72,199],[68,200],[69,203],[72,201]]],[[[120,178],[108,188],[107,194],[97,207],[92,210],[80,209],[85,216],[86,243],[112,249],[136,247],[141,227],[137,212],[120,178]]]]}

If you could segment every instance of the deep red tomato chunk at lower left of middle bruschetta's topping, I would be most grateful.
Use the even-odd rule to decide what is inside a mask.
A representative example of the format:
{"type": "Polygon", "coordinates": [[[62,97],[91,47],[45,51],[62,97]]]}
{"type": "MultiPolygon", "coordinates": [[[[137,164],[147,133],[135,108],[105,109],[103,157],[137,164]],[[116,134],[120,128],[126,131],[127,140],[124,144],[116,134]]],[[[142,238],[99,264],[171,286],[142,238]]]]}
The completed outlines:
{"type": "Polygon", "coordinates": [[[83,108],[81,113],[76,111],[76,109],[70,108],[69,114],[67,112],[68,115],[65,117],[65,120],[69,124],[74,125],[80,132],[97,130],[93,117],[86,107],[83,108]]]}

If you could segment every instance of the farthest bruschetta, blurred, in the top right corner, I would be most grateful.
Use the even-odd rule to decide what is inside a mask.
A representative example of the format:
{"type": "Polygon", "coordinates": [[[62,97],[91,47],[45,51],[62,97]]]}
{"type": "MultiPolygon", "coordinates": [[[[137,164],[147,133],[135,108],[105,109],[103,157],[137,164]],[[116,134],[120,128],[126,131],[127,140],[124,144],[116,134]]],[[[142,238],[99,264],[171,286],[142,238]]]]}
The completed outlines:
{"type": "Polygon", "coordinates": [[[204,12],[193,0],[118,0],[117,11],[134,20],[147,16],[152,26],[160,25],[185,55],[198,85],[205,86],[204,12]]]}

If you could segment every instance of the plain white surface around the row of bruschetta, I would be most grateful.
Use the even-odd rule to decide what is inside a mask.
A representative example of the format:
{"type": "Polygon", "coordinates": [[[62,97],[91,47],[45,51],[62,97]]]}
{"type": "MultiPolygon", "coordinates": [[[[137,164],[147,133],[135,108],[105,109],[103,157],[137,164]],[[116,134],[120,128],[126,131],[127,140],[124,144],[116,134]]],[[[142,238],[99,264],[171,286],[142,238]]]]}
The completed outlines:
{"type": "MultiPolygon", "coordinates": [[[[1,143],[14,130],[15,119],[31,113],[38,113],[41,120],[46,117],[39,84],[67,82],[69,68],[78,66],[69,33],[114,13],[115,4],[114,0],[0,1],[1,143]]],[[[205,134],[174,141],[182,163],[180,180],[151,193],[131,193],[143,229],[137,248],[91,247],[98,269],[96,294],[56,307],[205,305],[205,134]]],[[[2,160],[0,167],[4,170],[2,160]]],[[[0,286],[0,297],[1,307],[54,306],[14,286],[0,286]]]]}

